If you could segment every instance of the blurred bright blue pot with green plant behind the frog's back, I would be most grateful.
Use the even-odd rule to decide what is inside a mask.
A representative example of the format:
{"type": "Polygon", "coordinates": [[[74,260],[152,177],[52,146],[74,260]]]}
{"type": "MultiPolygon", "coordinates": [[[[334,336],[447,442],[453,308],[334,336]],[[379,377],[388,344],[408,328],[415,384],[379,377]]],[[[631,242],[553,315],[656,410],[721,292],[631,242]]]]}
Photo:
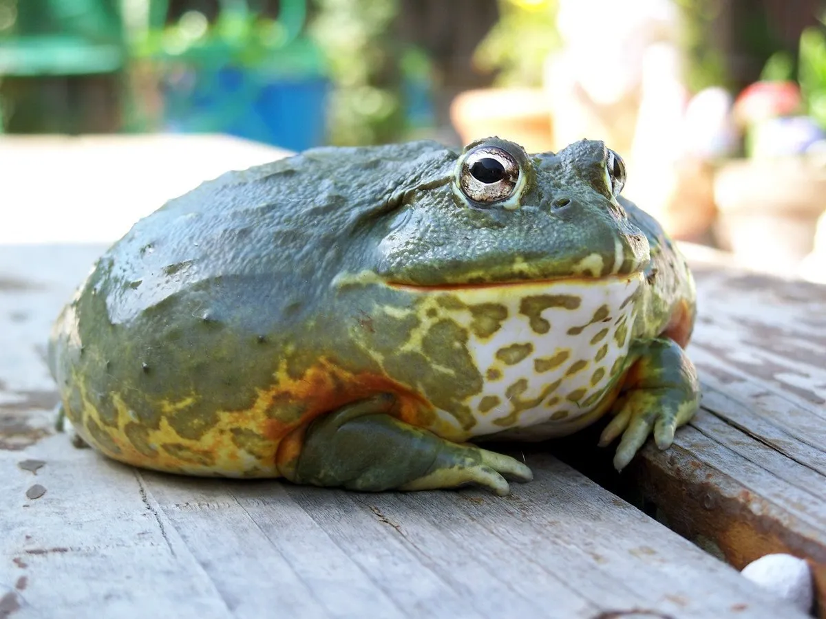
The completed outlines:
{"type": "Polygon", "coordinates": [[[185,12],[167,23],[167,0],[151,0],[145,26],[135,28],[135,64],[160,79],[167,130],[222,132],[306,149],[323,144],[328,82],[317,45],[306,36],[306,0],[282,0],[278,18],[247,0],[220,0],[210,22],[185,12]]]}

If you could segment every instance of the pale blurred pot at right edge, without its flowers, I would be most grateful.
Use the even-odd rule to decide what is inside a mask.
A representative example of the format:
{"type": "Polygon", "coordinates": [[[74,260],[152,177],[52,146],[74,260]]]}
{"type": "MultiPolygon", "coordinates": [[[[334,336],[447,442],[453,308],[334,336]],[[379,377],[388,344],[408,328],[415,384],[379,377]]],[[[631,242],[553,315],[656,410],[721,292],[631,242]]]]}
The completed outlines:
{"type": "Polygon", "coordinates": [[[795,273],[826,210],[826,167],[809,158],[725,163],[714,179],[719,243],[762,271],[795,273]]]}

